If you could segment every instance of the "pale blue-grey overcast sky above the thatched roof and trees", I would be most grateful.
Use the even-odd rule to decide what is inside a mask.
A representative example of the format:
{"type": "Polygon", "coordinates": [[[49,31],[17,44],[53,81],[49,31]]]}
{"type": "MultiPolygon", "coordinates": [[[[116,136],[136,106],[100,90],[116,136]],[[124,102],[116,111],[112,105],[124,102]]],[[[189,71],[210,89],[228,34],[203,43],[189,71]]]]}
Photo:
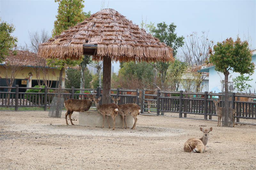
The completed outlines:
{"type": "MultiPolygon", "coordinates": [[[[242,40],[251,37],[252,49],[256,49],[256,0],[251,1],[152,1],[152,0],[84,0],[84,11],[96,13],[104,8],[113,8],[133,23],[140,25],[141,18],[155,24],[165,21],[177,26],[178,36],[209,31],[208,37],[223,41],[228,37],[242,40]]],[[[45,29],[51,34],[56,20],[58,3],[54,0],[0,0],[0,17],[15,25],[12,34],[18,38],[18,45],[29,43],[28,31],[39,33],[45,29]]],[[[114,63],[115,72],[119,63],[114,63]]]]}

